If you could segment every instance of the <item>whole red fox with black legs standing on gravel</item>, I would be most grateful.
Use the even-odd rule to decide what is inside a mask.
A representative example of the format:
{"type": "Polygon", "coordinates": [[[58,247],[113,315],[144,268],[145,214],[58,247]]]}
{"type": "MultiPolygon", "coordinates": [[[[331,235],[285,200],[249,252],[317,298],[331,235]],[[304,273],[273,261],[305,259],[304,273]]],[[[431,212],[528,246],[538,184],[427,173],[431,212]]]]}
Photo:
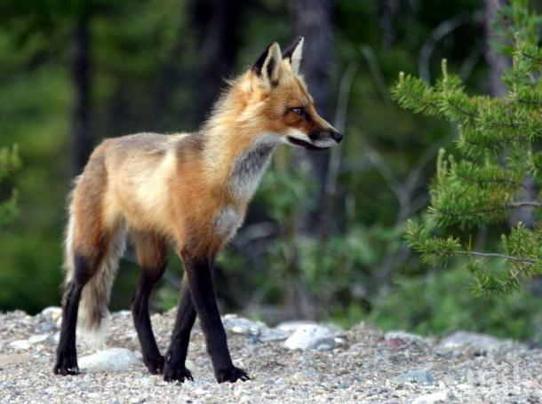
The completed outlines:
{"type": "Polygon", "coordinates": [[[299,75],[302,48],[302,37],[283,53],[277,43],[270,44],[250,69],[228,83],[195,133],[140,133],[96,147],[69,199],[55,374],[79,373],[79,305],[79,326],[86,334],[105,329],[117,261],[130,237],[141,267],[132,315],[150,373],[163,374],[166,381],[193,380],[185,360],[197,314],[218,383],[250,378],[231,360],[211,270],[219,250],[242,225],[275,146],[325,149],[342,139],[316,113],[299,75]],[[185,272],[171,345],[162,356],[148,298],[171,245],[185,272]]]}

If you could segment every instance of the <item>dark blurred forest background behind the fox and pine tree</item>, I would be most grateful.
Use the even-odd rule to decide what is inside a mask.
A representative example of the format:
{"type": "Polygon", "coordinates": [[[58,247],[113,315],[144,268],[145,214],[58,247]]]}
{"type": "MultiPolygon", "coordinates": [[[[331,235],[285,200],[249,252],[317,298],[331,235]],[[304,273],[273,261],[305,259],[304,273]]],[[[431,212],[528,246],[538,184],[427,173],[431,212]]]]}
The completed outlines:
{"type": "MultiPolygon", "coordinates": [[[[399,71],[425,80],[442,58],[467,91],[502,95],[509,60],[491,43],[505,0],[3,0],[0,147],[22,166],[0,201],[18,216],[0,233],[0,310],[60,305],[65,201],[101,139],[191,131],[224,86],[272,41],[306,37],[301,70],[321,115],[345,133],[329,154],[279,147],[245,225],[219,257],[223,311],[270,323],[375,322],[442,334],[471,329],[542,342],[536,282],[507,297],[470,292],[462,261],[421,265],[403,242],[426,210],[449,123],[397,107],[399,71]]],[[[535,2],[531,5],[540,8],[535,2]]],[[[474,234],[490,250],[498,227],[474,234]]],[[[111,308],[127,309],[139,269],[128,252],[111,308]]],[[[176,305],[179,258],[153,298],[176,305]]]]}

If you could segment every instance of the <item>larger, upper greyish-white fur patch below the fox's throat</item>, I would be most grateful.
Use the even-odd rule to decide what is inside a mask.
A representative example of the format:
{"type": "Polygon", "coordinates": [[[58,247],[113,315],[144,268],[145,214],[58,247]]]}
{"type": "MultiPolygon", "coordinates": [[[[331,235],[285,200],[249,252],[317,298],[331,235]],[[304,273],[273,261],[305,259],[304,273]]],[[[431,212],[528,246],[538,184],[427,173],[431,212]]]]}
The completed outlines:
{"type": "Polygon", "coordinates": [[[253,147],[237,157],[228,181],[229,190],[235,198],[248,201],[254,195],[276,143],[275,135],[262,136],[253,147]]]}

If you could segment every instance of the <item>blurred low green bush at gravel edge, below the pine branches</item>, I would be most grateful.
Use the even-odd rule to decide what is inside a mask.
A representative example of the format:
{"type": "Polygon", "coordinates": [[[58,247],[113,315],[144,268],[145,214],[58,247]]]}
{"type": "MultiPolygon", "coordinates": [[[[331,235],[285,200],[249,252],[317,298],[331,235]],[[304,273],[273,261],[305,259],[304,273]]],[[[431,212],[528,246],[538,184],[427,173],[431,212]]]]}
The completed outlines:
{"type": "MultiPolygon", "coordinates": [[[[506,273],[503,262],[493,270],[506,273]]],[[[474,281],[465,276],[466,261],[458,259],[445,271],[397,276],[395,287],[373,301],[369,320],[383,329],[410,329],[442,336],[450,329],[469,329],[499,337],[542,343],[539,297],[522,289],[506,296],[475,297],[467,290],[474,281]]]]}

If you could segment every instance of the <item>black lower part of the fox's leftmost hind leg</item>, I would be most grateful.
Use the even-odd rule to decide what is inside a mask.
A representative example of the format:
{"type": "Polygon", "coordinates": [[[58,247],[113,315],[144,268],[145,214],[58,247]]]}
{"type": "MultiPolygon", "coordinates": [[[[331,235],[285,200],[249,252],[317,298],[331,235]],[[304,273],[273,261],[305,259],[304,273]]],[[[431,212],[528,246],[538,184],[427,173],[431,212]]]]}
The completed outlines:
{"type": "Polygon", "coordinates": [[[73,279],[68,282],[64,301],[62,305],[62,325],[60,328],[60,341],[57,348],[57,360],[52,371],[57,375],[77,375],[76,353],[76,326],[79,300],[84,285],[90,280],[90,261],[82,256],[76,255],[75,273],[73,279]]]}

